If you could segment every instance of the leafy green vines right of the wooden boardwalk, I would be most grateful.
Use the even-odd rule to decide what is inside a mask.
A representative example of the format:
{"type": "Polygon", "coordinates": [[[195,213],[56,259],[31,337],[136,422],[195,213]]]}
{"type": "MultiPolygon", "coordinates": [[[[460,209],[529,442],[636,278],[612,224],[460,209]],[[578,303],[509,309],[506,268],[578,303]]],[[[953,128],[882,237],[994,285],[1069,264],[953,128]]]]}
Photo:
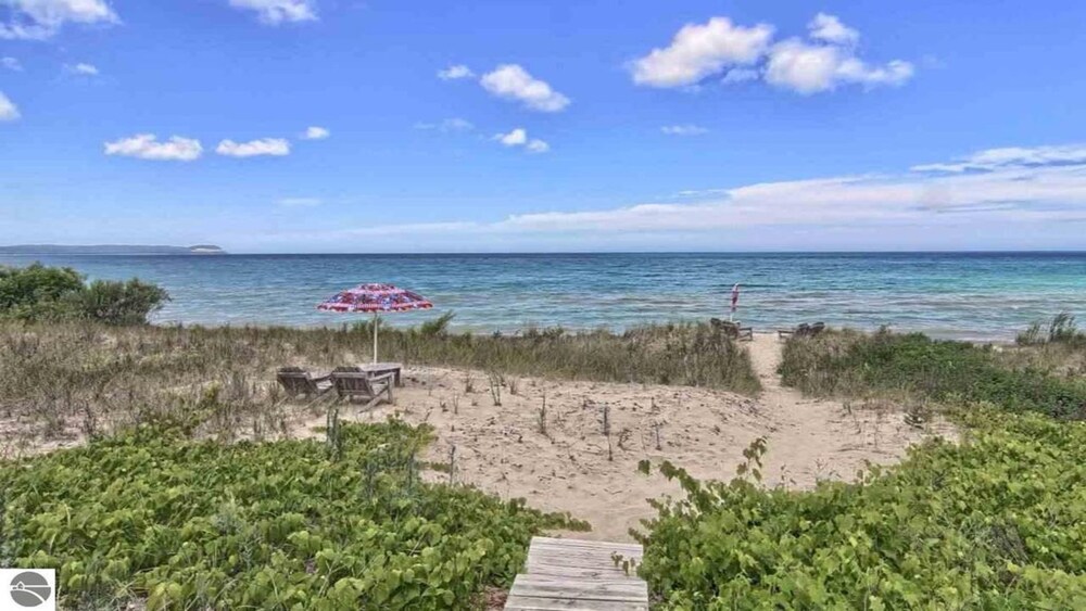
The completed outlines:
{"type": "Polygon", "coordinates": [[[969,418],[960,445],[813,492],[665,463],[686,496],[655,501],[639,573],[661,609],[1086,608],[1086,423],[969,418]]]}

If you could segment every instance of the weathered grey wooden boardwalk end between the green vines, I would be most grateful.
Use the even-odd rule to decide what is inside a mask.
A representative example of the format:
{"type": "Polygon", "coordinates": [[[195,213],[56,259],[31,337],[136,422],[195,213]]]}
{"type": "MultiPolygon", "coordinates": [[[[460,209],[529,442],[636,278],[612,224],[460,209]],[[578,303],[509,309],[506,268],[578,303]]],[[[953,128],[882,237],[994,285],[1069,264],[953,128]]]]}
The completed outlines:
{"type": "Polygon", "coordinates": [[[641,563],[636,544],[532,537],[506,611],[648,611],[648,585],[613,553],[641,563]]]}

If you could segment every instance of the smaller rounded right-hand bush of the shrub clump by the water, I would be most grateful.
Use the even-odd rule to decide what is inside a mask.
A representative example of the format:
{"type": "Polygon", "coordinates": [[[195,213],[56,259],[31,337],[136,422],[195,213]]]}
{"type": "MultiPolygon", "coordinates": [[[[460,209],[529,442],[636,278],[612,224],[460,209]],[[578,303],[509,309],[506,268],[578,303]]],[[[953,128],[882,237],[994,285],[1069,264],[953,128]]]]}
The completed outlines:
{"type": "Polygon", "coordinates": [[[105,324],[147,324],[151,314],[169,301],[166,290],[132,278],[127,282],[96,280],[72,297],[83,317],[105,324]]]}

